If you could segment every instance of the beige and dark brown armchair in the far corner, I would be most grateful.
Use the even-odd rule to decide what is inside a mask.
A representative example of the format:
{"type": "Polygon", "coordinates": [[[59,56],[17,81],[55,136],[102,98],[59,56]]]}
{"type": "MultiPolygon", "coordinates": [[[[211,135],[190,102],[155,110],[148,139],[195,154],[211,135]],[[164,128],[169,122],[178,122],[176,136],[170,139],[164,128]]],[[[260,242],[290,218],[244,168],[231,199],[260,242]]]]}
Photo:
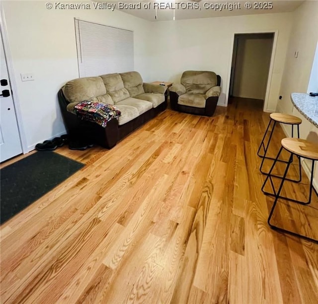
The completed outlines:
{"type": "Polygon", "coordinates": [[[221,77],[210,71],[185,71],[169,88],[171,109],[212,116],[221,94],[221,77]]]}

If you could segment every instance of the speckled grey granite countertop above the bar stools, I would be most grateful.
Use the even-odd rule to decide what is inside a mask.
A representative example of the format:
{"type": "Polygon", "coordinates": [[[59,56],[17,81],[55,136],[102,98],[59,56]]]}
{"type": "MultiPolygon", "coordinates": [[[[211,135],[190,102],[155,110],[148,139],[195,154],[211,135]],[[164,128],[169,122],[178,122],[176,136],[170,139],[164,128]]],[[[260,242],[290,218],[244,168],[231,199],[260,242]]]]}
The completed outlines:
{"type": "Polygon", "coordinates": [[[292,103],[305,118],[318,127],[318,96],[311,97],[305,93],[292,93],[292,103]]]}

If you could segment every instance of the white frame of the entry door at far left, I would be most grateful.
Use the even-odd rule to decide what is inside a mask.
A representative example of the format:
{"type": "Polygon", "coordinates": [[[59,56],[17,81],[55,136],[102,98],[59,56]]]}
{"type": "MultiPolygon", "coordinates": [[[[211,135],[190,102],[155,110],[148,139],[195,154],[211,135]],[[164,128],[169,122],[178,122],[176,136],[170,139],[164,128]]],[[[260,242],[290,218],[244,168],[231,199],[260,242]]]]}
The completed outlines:
{"type": "Polygon", "coordinates": [[[9,47],[9,41],[7,37],[7,27],[6,27],[6,22],[5,22],[5,16],[4,16],[4,10],[2,6],[2,2],[0,3],[0,31],[2,35],[2,44],[3,44],[3,49],[4,49],[4,57],[6,61],[6,67],[8,70],[8,75],[9,75],[9,82],[10,82],[10,87],[11,87],[11,92],[12,92],[12,100],[13,100],[13,106],[14,106],[14,111],[15,111],[15,117],[16,117],[16,122],[18,125],[18,130],[19,130],[19,137],[20,137],[20,144],[22,148],[23,154],[26,154],[29,152],[28,147],[27,147],[27,142],[26,142],[26,136],[25,136],[25,130],[22,122],[22,114],[21,114],[21,108],[20,108],[20,103],[19,103],[19,98],[18,98],[18,92],[16,89],[16,82],[15,82],[15,77],[14,77],[14,69],[13,69],[13,64],[12,64],[12,58],[11,58],[11,52],[10,52],[10,47],[9,47]]]}

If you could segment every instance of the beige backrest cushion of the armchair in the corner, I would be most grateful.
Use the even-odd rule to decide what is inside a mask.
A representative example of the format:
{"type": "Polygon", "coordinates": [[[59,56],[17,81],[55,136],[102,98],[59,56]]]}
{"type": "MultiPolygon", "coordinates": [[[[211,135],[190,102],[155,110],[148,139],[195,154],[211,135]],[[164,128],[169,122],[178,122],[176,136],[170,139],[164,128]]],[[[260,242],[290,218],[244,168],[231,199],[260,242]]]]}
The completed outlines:
{"type": "Polygon", "coordinates": [[[205,94],[217,83],[216,73],[210,71],[185,71],[181,76],[181,84],[187,93],[205,94]]]}

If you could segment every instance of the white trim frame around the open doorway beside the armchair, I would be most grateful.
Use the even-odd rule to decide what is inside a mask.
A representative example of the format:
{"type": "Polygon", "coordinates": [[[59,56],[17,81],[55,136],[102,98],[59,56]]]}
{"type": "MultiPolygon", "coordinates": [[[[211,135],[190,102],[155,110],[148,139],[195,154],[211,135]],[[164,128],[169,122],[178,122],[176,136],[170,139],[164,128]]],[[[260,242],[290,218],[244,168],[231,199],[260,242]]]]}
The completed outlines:
{"type": "Polygon", "coordinates": [[[230,93],[230,81],[231,81],[231,68],[232,68],[232,58],[233,58],[233,47],[234,47],[234,39],[236,34],[265,34],[271,33],[274,35],[273,37],[273,47],[272,47],[272,54],[270,58],[269,64],[269,71],[267,77],[267,85],[266,85],[266,93],[264,99],[264,112],[274,112],[275,109],[268,109],[268,100],[269,100],[269,91],[271,86],[271,80],[273,76],[273,69],[274,69],[274,59],[276,54],[276,47],[277,47],[277,38],[278,38],[278,30],[254,30],[254,31],[241,31],[241,32],[234,32],[232,34],[231,40],[231,51],[230,51],[230,58],[229,58],[229,67],[228,67],[228,79],[227,79],[227,88],[226,88],[226,98],[225,98],[225,106],[228,106],[229,102],[229,93],[230,93]]]}

